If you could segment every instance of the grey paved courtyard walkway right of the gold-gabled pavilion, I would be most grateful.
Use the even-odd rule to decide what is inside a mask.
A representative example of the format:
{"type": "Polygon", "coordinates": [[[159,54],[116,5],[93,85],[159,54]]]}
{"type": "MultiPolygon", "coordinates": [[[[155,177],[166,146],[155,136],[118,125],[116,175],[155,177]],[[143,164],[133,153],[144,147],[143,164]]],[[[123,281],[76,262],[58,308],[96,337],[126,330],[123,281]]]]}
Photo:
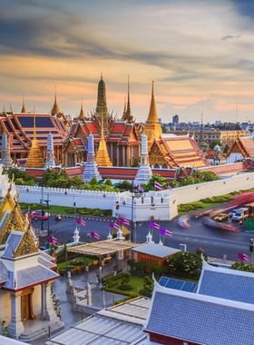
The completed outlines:
{"type": "MultiPolygon", "coordinates": [[[[102,277],[112,273],[113,267],[117,265],[117,270],[127,271],[127,260],[123,259],[121,261],[112,260],[107,265],[102,268],[102,277]]],[[[98,287],[97,283],[97,272],[99,268],[95,267],[90,271],[85,271],[79,274],[75,274],[72,277],[73,286],[79,289],[86,289],[87,281],[92,287],[92,302],[93,307],[103,309],[103,304],[105,308],[109,308],[113,305],[114,301],[122,300],[126,296],[114,294],[111,292],[104,292],[103,301],[103,291],[98,287]]],[[[64,322],[64,330],[68,329],[75,323],[87,318],[88,314],[83,314],[77,311],[72,311],[72,305],[70,301],[70,294],[66,293],[66,281],[67,278],[60,276],[58,280],[54,281],[53,292],[59,298],[59,307],[61,308],[61,320],[64,322]]],[[[53,335],[53,334],[52,334],[53,335]]],[[[41,338],[39,340],[34,340],[32,345],[44,345],[47,337],[41,338]]]]}

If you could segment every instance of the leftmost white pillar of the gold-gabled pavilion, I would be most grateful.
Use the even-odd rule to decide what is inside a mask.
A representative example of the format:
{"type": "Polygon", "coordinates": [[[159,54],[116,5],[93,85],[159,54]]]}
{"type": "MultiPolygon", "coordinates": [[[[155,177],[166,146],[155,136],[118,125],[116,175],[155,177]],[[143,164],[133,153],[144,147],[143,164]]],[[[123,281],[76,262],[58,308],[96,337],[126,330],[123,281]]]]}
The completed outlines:
{"type": "Polygon", "coordinates": [[[21,293],[10,292],[11,294],[11,322],[9,324],[10,335],[17,339],[24,331],[24,325],[21,320],[21,293]]]}

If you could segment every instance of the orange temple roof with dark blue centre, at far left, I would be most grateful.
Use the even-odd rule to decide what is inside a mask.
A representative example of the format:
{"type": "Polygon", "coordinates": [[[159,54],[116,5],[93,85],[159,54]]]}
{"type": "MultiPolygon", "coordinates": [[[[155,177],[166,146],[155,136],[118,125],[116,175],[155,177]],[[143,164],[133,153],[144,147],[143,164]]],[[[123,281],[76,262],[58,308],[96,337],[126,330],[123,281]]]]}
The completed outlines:
{"type": "MultiPolygon", "coordinates": [[[[50,113],[36,113],[36,138],[39,146],[46,146],[47,135],[52,133],[54,145],[63,146],[68,135],[64,121],[50,113]]],[[[0,123],[9,137],[11,153],[27,153],[34,138],[34,113],[14,113],[0,117],[0,123]]]]}

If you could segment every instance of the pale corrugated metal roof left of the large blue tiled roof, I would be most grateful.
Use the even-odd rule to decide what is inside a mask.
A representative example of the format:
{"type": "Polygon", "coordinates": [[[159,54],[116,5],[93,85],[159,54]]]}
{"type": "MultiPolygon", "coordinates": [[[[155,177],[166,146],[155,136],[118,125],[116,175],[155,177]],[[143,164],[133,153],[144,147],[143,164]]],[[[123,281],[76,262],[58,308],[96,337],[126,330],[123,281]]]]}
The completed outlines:
{"type": "Polygon", "coordinates": [[[131,345],[144,339],[142,331],[150,300],[132,301],[99,311],[54,336],[47,345],[131,345]]]}

